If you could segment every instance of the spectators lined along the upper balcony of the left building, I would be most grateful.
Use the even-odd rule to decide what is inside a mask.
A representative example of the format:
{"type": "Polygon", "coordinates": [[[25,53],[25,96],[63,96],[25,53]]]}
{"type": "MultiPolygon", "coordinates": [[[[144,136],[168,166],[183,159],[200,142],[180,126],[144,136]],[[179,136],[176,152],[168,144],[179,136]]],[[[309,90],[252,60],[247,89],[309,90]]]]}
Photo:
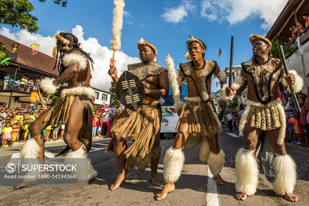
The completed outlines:
{"type": "Polygon", "coordinates": [[[16,78],[14,83],[14,77],[6,75],[2,82],[0,82],[1,90],[11,90],[13,89],[18,91],[32,92],[37,90],[37,85],[40,85],[40,80],[29,79],[28,77],[16,78]]]}

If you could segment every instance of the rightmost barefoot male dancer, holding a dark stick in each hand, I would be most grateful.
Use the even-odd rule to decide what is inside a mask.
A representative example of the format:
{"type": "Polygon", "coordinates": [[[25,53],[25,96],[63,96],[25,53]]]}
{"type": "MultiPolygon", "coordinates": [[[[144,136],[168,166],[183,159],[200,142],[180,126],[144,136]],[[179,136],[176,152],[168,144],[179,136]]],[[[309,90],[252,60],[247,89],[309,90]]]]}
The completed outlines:
{"type": "Polygon", "coordinates": [[[282,78],[285,86],[294,85],[295,92],[299,92],[303,80],[294,70],[285,76],[281,60],[268,56],[272,44],[267,38],[252,34],[250,41],[255,58],[242,63],[240,77],[235,79],[231,88],[224,85],[226,90],[222,90],[223,97],[233,99],[248,86],[248,99],[239,124],[239,135],[243,134],[244,143],[236,155],[235,197],[245,200],[256,192],[259,169],[254,149],[260,133],[266,131],[276,156],[272,163],[275,173],[273,190],[277,195],[294,202],[298,200],[293,194],[296,165],[285,150],[286,117],[277,88],[282,78]]]}

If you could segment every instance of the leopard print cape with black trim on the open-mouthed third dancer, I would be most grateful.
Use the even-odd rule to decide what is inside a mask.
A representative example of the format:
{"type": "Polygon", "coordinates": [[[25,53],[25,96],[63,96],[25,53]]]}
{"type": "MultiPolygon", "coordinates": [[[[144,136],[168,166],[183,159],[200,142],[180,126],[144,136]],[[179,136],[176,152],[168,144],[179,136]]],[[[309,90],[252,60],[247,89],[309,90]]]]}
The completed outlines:
{"type": "Polygon", "coordinates": [[[184,75],[190,77],[201,97],[202,102],[208,102],[210,100],[210,95],[208,94],[207,79],[211,78],[214,71],[217,68],[216,61],[204,60],[204,65],[202,68],[197,69],[193,65],[193,61],[188,61],[179,65],[180,70],[184,75]]]}

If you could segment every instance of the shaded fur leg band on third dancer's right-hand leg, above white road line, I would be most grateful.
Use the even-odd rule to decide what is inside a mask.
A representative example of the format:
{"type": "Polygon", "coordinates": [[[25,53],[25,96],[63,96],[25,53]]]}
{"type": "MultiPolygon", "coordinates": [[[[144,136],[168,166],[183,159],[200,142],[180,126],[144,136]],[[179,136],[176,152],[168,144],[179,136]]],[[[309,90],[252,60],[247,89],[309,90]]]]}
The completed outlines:
{"type": "Polygon", "coordinates": [[[218,176],[218,174],[221,173],[222,168],[224,166],[224,152],[223,150],[220,150],[218,154],[214,154],[213,152],[210,152],[209,159],[208,159],[208,167],[210,170],[210,173],[214,176],[218,176]]]}

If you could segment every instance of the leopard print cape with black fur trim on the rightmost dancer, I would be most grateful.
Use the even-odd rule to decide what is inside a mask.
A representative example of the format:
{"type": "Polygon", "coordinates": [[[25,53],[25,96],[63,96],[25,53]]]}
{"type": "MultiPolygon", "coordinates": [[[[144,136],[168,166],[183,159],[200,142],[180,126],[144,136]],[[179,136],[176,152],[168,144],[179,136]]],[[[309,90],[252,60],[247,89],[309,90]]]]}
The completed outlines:
{"type": "Polygon", "coordinates": [[[250,74],[253,80],[253,85],[256,97],[262,104],[267,104],[271,101],[271,82],[273,75],[280,71],[282,61],[268,57],[265,62],[258,62],[256,58],[241,63],[245,73],[250,74]]]}

